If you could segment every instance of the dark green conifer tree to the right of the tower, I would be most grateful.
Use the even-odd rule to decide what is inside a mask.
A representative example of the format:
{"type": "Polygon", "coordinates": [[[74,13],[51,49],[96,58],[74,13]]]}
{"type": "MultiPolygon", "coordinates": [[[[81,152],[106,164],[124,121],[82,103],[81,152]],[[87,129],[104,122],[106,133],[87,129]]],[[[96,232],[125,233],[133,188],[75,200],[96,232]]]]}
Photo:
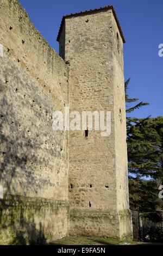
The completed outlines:
{"type": "MultiPolygon", "coordinates": [[[[125,83],[127,115],[148,105],[130,99],[125,83]],[[129,106],[135,102],[135,106],[129,106]]],[[[163,180],[163,117],[127,116],[127,145],[130,207],[152,221],[160,221],[161,200],[158,187],[163,180]]]]}

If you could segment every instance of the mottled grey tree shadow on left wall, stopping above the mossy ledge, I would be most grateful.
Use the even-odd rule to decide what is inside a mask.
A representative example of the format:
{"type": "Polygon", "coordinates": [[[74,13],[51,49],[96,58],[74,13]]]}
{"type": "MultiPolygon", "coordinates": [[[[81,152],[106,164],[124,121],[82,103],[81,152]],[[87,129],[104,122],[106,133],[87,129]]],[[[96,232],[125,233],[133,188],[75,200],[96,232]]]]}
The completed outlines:
{"type": "MultiPolygon", "coordinates": [[[[24,196],[26,190],[36,194],[39,182],[35,176],[35,163],[41,166],[41,160],[32,152],[38,145],[36,139],[30,137],[20,112],[16,112],[16,102],[10,102],[7,93],[4,94],[0,102],[0,184],[8,194],[17,194],[18,188],[24,196]]],[[[26,123],[28,125],[28,121],[26,123]]]]}

